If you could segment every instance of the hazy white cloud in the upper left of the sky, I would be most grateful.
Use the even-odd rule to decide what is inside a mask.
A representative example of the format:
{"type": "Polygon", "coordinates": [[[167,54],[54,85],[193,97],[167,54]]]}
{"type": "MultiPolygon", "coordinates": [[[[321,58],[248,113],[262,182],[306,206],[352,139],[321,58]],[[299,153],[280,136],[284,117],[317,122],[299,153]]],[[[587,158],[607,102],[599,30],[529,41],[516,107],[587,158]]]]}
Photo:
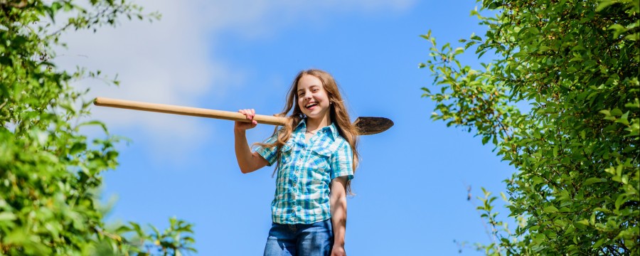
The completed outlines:
{"type": "MultiPolygon", "coordinates": [[[[277,29],[304,19],[329,19],[336,12],[402,11],[413,0],[357,1],[136,1],[145,11],[159,11],[160,21],[120,21],[117,28],[97,33],[68,33],[56,62],[62,68],[75,65],[118,75],[120,87],[99,80],[82,80],[75,86],[91,87],[90,97],[193,106],[203,95],[224,92],[242,82],[244,70],[229,70],[216,60],[216,35],[233,31],[243,36],[269,36],[277,29]]],[[[201,129],[197,118],[164,117],[161,114],[94,108],[94,117],[115,129],[141,130],[156,143],[155,149],[198,147],[211,131],[201,129]],[[178,121],[179,120],[179,121],[178,121]],[[171,136],[167,136],[171,134],[171,136]]]]}

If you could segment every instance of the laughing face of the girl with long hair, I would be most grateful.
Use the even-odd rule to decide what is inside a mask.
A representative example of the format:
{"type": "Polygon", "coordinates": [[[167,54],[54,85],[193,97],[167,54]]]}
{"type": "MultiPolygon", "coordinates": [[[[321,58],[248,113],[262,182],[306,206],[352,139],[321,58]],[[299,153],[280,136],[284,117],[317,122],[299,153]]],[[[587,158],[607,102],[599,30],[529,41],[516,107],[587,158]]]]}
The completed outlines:
{"type": "Polygon", "coordinates": [[[302,75],[297,87],[298,106],[306,117],[321,120],[329,117],[329,95],[322,81],[313,75],[302,75]]]}

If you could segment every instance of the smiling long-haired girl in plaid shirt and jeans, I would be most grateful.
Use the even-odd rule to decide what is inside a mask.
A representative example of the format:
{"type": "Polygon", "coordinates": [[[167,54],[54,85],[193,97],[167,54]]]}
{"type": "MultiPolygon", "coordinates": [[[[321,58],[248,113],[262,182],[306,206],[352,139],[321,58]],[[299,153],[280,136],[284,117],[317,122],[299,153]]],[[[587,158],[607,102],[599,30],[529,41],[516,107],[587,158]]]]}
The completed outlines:
{"type": "Polygon", "coordinates": [[[276,164],[272,228],[265,255],[346,255],[346,193],[358,164],[358,132],[334,78],[304,70],[292,83],[276,127],[255,151],[245,131],[257,125],[255,110],[240,110],[252,122],[235,122],[235,156],[243,174],[276,164]]]}

